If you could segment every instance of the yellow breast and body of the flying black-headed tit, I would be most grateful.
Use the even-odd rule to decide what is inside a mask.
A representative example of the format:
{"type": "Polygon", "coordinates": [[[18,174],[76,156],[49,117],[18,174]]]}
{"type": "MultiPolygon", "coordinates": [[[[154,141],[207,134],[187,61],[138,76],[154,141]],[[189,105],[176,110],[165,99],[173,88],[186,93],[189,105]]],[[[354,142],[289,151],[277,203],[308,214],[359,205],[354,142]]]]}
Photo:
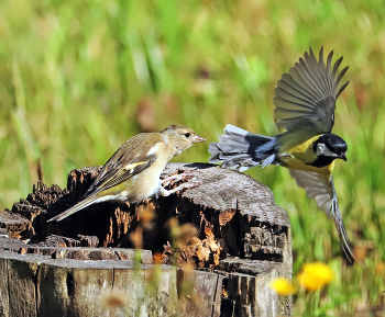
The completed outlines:
{"type": "Polygon", "coordinates": [[[317,135],[297,146],[279,152],[278,158],[283,162],[283,166],[295,170],[331,174],[333,171],[334,161],[321,168],[311,166],[311,163],[317,159],[317,154],[314,150],[314,144],[319,137],[320,135],[317,135]]]}

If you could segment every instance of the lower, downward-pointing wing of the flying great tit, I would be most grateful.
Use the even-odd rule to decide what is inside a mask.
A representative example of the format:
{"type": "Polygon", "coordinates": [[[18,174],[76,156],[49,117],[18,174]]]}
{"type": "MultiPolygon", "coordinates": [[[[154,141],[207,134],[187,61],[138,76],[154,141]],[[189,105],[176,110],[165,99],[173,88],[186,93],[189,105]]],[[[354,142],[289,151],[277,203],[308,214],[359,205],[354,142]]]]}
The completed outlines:
{"type": "Polygon", "coordinates": [[[348,234],[343,225],[342,215],[337,200],[333,177],[292,169],[290,176],[296,180],[299,186],[306,190],[306,193],[310,199],[316,200],[317,206],[322,210],[329,218],[334,219],[343,252],[351,262],[354,262],[355,257],[353,253],[353,246],[348,238],[348,234]]]}

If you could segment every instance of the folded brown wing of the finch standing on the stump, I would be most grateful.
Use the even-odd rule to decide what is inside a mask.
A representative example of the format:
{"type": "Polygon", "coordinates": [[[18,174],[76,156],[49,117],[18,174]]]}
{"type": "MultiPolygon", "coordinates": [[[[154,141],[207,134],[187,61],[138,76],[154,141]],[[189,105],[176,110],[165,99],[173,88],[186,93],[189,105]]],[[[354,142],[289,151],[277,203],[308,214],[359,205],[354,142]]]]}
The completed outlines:
{"type": "Polygon", "coordinates": [[[155,160],[154,148],[163,139],[145,144],[136,138],[123,144],[100,170],[97,179],[84,197],[89,197],[107,189],[124,183],[148,168],[155,160]]]}

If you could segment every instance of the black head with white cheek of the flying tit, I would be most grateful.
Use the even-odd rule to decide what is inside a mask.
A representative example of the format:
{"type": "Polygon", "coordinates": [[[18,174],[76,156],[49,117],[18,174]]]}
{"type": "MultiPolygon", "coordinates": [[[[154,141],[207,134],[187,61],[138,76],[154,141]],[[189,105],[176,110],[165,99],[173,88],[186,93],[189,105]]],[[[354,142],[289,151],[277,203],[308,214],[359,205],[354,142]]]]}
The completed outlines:
{"type": "Polygon", "coordinates": [[[322,134],[314,145],[314,151],[318,156],[329,157],[333,161],[337,158],[346,159],[348,145],[343,138],[332,133],[322,134]]]}

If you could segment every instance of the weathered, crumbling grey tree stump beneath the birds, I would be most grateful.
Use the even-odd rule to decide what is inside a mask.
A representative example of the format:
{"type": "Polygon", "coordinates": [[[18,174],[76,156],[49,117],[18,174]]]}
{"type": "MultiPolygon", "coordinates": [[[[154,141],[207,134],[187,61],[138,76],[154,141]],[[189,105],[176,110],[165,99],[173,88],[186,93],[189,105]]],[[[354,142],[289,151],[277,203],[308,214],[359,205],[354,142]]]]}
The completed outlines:
{"type": "Polygon", "coordinates": [[[38,183],[0,213],[0,316],[290,316],[292,298],[268,287],[290,279],[293,258],[288,216],[267,186],[208,163],[168,163],[162,178],[190,171],[202,184],[46,223],[81,199],[99,169],[72,171],[65,190],[38,183]],[[178,244],[191,225],[196,235],[178,244]]]}

